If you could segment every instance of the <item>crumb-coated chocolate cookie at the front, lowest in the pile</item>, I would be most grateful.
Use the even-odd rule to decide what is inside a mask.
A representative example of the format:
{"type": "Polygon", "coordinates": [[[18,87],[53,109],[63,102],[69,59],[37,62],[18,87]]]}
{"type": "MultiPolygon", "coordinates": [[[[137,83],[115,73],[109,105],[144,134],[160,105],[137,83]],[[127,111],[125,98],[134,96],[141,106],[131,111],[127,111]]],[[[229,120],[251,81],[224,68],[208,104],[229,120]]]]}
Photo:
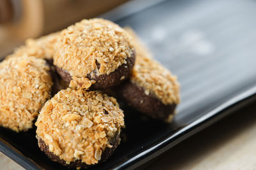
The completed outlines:
{"type": "Polygon", "coordinates": [[[119,145],[124,113],[113,97],[68,88],[45,103],[35,125],[38,146],[50,159],[88,167],[108,159],[119,145]]]}

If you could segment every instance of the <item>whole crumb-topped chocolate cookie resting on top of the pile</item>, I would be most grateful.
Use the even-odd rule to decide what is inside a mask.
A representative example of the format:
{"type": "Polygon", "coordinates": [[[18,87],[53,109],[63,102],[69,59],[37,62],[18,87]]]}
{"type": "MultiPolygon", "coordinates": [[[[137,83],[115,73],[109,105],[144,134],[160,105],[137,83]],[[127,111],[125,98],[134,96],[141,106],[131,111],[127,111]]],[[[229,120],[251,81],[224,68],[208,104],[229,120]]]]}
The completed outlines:
{"type": "Polygon", "coordinates": [[[135,61],[131,37],[104,19],[82,20],[61,31],[54,65],[70,87],[103,90],[129,77],[135,61]]]}

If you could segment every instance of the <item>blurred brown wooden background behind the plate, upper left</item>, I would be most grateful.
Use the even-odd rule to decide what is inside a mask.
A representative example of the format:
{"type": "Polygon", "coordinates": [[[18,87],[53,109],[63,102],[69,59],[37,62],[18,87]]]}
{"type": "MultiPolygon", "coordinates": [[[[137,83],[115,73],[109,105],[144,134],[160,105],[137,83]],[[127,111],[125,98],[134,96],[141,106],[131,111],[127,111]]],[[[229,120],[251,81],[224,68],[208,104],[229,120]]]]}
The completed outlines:
{"type": "Polygon", "coordinates": [[[26,38],[59,31],[92,18],[128,0],[0,0],[0,56],[26,38]]]}

